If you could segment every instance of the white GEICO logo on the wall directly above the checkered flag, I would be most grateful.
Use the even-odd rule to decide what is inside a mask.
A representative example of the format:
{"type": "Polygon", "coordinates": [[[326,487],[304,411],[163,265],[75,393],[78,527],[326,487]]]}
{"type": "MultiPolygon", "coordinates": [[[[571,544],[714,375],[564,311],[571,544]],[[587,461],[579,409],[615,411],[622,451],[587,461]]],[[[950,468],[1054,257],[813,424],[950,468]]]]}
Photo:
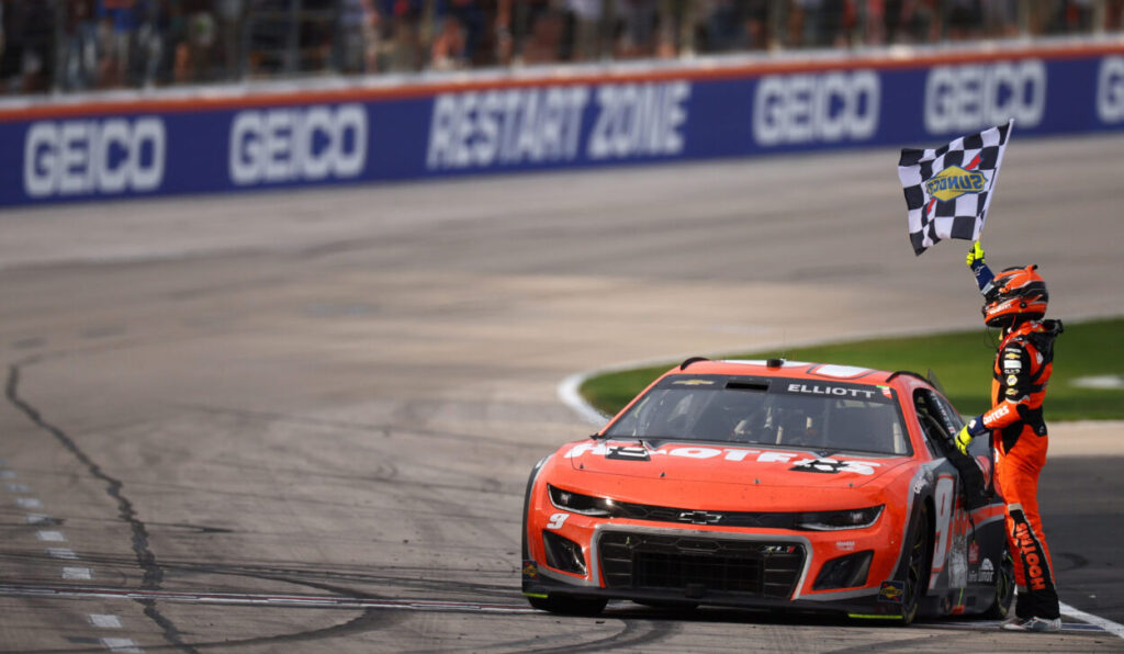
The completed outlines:
{"type": "Polygon", "coordinates": [[[936,66],[925,80],[925,130],[971,131],[1014,118],[1019,128],[1042,122],[1046,66],[1042,60],[936,66]]]}

